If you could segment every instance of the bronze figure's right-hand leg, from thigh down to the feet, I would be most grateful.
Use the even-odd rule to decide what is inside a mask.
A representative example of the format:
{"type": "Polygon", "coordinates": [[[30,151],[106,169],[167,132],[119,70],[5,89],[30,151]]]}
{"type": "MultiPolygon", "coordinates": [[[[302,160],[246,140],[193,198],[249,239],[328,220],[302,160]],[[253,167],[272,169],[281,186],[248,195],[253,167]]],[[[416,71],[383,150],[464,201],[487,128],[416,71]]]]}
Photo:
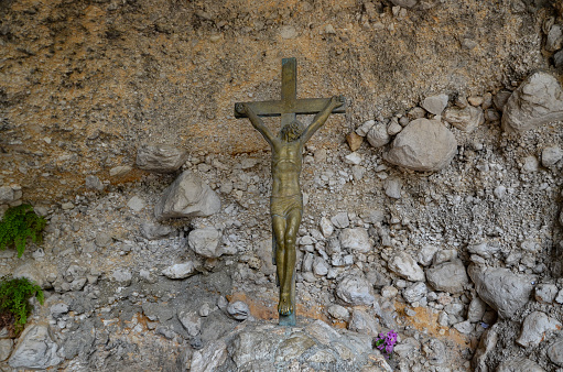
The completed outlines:
{"type": "Polygon", "coordinates": [[[285,226],[285,242],[284,242],[284,277],[280,282],[280,305],[279,311],[282,315],[290,315],[293,313],[294,304],[291,298],[291,286],[293,285],[293,272],[295,270],[295,240],[297,237],[299,226],[301,223],[301,210],[294,209],[288,214],[285,226]]]}

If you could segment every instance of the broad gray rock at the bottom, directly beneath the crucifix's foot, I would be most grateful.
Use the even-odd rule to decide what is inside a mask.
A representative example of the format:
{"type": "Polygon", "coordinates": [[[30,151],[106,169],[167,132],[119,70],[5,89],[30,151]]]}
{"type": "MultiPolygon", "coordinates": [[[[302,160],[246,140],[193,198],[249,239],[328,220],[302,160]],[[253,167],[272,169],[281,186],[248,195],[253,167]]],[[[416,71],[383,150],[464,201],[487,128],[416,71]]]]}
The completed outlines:
{"type": "Polygon", "coordinates": [[[371,337],[335,331],[321,320],[300,327],[245,321],[193,353],[186,365],[201,371],[391,371],[371,337]],[[290,365],[292,369],[290,369],[290,365]]]}

